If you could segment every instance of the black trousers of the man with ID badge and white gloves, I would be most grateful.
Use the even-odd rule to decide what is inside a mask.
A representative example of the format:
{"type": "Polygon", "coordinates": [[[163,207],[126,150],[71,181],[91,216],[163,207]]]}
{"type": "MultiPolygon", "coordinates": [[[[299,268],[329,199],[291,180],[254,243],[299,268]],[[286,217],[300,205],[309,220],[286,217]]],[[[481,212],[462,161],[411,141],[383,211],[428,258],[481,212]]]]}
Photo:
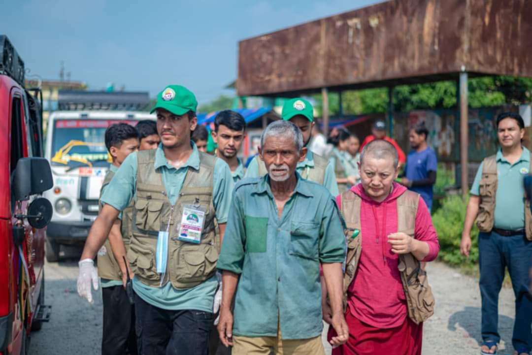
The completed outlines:
{"type": "Polygon", "coordinates": [[[140,355],[207,355],[212,312],[167,310],[135,295],[140,355]]]}

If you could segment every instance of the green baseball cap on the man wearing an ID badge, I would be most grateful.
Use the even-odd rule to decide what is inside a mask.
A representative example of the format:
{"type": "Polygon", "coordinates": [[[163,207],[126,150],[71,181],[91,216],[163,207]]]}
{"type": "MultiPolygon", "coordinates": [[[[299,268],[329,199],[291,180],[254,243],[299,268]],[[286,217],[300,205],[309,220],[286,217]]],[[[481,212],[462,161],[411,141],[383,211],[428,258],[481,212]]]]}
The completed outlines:
{"type": "Polygon", "coordinates": [[[153,113],[157,108],[164,108],[174,115],[184,115],[189,111],[196,112],[198,102],[192,91],[181,85],[169,85],[157,95],[157,103],[152,108],[153,113]]]}

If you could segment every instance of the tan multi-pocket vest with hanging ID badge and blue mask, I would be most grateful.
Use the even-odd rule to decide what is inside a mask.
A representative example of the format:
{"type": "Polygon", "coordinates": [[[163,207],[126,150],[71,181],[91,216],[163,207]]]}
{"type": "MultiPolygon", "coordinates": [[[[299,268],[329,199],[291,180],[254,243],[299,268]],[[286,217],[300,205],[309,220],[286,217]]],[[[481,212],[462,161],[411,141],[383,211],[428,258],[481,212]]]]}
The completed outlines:
{"type": "Polygon", "coordinates": [[[171,205],[160,169],[155,170],[155,152],[138,152],[137,191],[132,214],[132,236],[127,258],[135,276],[152,287],[170,282],[176,289],[197,286],[216,273],[220,233],[212,202],[215,157],[200,152],[200,170],[188,167],[175,205],[171,205]],[[177,239],[183,207],[205,211],[201,243],[177,239]],[[155,253],[159,231],[169,230],[167,268],[164,279],[157,273],[155,253]]]}

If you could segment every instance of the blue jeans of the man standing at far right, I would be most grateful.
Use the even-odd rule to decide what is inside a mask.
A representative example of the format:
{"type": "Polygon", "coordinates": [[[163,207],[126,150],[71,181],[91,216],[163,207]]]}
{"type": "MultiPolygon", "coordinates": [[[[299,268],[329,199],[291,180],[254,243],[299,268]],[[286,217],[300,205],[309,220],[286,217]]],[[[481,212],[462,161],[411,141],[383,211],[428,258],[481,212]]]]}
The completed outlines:
{"type": "Polygon", "coordinates": [[[532,264],[532,241],[523,234],[503,236],[494,231],[478,236],[480,295],[482,297],[482,338],[500,341],[498,325],[498,295],[508,267],[516,295],[516,319],[512,345],[520,352],[532,346],[532,298],[529,294],[528,271],[532,264]]]}

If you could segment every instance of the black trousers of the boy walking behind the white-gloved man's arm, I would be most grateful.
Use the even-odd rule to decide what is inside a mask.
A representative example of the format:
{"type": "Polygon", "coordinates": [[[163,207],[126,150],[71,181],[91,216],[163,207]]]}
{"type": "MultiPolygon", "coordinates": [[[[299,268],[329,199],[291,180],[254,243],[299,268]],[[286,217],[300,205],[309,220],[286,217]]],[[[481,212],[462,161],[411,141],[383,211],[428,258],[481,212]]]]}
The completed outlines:
{"type": "Polygon", "coordinates": [[[120,286],[102,288],[102,355],[137,355],[135,306],[120,286]]]}

